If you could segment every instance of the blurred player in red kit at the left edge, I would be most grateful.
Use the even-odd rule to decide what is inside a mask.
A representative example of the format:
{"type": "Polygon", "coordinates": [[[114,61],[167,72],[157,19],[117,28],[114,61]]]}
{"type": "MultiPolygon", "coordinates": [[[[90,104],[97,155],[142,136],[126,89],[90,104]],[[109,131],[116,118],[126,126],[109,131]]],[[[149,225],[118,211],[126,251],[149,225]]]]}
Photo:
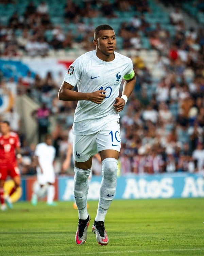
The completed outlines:
{"type": "Polygon", "coordinates": [[[10,124],[7,121],[0,122],[0,201],[1,210],[6,210],[4,202],[4,182],[8,175],[14,181],[14,187],[9,195],[6,196],[5,201],[9,208],[12,208],[10,196],[16,191],[21,184],[20,173],[16,161],[21,158],[20,155],[20,141],[18,134],[10,131],[10,124]],[[17,155],[16,155],[17,154],[17,155]]]}

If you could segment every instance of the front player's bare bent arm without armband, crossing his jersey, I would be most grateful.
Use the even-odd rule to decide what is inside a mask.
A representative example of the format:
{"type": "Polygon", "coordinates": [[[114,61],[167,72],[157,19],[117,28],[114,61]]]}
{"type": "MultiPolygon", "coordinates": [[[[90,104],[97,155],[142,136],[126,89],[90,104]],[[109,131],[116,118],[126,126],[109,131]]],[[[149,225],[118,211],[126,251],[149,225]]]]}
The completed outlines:
{"type": "Polygon", "coordinates": [[[98,90],[92,93],[80,93],[78,91],[73,91],[74,86],[63,81],[58,97],[60,100],[74,101],[74,100],[90,100],[94,103],[100,104],[105,99],[105,90],[98,90]]]}

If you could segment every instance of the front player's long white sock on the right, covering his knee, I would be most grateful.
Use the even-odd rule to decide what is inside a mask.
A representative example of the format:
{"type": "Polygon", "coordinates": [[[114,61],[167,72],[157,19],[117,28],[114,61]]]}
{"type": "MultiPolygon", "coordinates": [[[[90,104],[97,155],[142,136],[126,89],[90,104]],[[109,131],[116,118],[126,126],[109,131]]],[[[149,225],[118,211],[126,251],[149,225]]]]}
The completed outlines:
{"type": "Polygon", "coordinates": [[[108,157],[102,161],[102,182],[95,221],[104,221],[105,215],[114,198],[117,185],[118,161],[108,157]]]}

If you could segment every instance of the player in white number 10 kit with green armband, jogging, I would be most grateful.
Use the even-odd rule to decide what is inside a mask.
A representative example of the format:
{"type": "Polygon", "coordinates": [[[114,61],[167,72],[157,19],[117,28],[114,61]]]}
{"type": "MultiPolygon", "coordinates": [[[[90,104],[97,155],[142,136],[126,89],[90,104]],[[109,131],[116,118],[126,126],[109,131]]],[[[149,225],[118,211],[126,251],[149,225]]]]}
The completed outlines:
{"type": "Polygon", "coordinates": [[[88,176],[92,157],[99,152],[103,177],[92,230],[97,242],[106,245],[104,221],[116,191],[121,141],[118,112],[123,110],[136,80],[132,60],[115,52],[116,36],[111,26],[104,24],[95,29],[94,45],[96,50],[83,54],[69,67],[58,96],[60,100],[78,100],[73,123],[74,198],[79,212],[75,241],[84,244],[87,238],[88,176]],[[120,98],[122,79],[125,82],[120,98]],[[75,85],[78,91],[72,90],[75,85]]]}

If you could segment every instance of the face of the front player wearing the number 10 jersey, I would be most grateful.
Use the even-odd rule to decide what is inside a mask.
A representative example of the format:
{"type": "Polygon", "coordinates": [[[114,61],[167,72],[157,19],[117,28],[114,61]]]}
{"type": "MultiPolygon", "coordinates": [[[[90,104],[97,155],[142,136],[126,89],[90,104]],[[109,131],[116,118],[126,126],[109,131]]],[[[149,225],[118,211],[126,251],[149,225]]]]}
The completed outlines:
{"type": "Polygon", "coordinates": [[[116,48],[116,35],[114,30],[100,30],[97,39],[94,39],[97,46],[97,53],[109,56],[114,53],[116,48]]]}

